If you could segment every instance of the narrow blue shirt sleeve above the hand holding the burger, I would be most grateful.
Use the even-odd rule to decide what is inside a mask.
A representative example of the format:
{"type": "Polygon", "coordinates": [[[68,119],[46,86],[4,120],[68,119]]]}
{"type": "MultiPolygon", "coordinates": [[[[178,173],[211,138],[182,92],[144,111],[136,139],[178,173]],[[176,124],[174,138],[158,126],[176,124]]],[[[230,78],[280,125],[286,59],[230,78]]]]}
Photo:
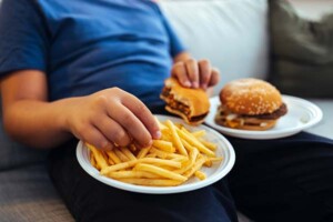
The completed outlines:
{"type": "Polygon", "coordinates": [[[174,58],[179,53],[185,51],[185,47],[162,11],[161,17],[170,39],[170,54],[174,58]]]}

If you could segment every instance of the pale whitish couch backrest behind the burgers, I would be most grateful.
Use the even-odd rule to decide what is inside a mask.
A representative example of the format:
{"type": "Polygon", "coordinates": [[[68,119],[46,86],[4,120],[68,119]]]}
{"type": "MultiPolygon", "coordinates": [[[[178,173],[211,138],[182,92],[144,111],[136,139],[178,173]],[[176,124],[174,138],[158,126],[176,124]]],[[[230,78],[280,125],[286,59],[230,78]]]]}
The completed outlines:
{"type": "Polygon", "coordinates": [[[189,51],[220,69],[215,94],[233,79],[266,78],[266,0],[162,0],[160,4],[189,51]]]}

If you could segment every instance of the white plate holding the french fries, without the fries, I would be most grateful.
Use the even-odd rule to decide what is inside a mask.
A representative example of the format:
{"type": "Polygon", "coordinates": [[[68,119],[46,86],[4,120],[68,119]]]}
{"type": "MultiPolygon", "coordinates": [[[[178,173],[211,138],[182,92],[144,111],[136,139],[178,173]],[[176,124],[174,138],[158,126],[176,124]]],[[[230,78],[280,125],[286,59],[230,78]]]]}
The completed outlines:
{"type": "Polygon", "coordinates": [[[99,171],[93,168],[90,164],[89,161],[89,149],[84,145],[83,142],[79,142],[77,147],[77,158],[80,163],[80,165],[83,168],[83,170],[89,173],[94,179],[99,180],[102,183],[105,183],[108,185],[132,191],[132,192],[139,192],[139,193],[159,193],[159,194],[167,194],[167,193],[180,193],[180,192],[186,192],[196,190],[200,188],[204,188],[206,185],[210,185],[218,180],[221,180],[224,175],[226,175],[230,170],[232,169],[234,161],[235,161],[235,153],[233,150],[233,147],[230,144],[230,142],[219,132],[215,130],[208,128],[205,125],[199,125],[199,127],[190,127],[185,124],[181,119],[173,118],[169,115],[155,115],[159,120],[164,121],[167,119],[179,122],[184,124],[189,130],[205,130],[206,135],[205,139],[210,142],[216,143],[216,157],[223,157],[223,161],[221,163],[215,163],[211,168],[203,167],[201,170],[206,174],[206,179],[203,181],[200,181],[195,178],[190,179],[185,183],[178,185],[178,186],[167,186],[167,188],[159,188],[159,186],[143,186],[143,185],[134,185],[129,183],[123,183],[107,176],[103,176],[99,173],[99,171]]]}

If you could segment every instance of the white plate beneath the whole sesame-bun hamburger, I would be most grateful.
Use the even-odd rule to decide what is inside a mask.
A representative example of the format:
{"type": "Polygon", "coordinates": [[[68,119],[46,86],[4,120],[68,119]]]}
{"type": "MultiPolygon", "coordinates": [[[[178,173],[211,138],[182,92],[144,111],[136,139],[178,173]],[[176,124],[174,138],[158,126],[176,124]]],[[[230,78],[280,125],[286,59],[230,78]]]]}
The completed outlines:
{"type": "Polygon", "coordinates": [[[287,113],[280,118],[276,125],[270,130],[239,130],[216,124],[214,118],[218,111],[218,107],[220,105],[219,97],[213,97],[210,99],[211,109],[209,115],[205,119],[205,123],[226,135],[243,139],[265,140],[284,138],[295,134],[302,130],[313,127],[323,118],[322,110],[307,100],[291,95],[282,95],[282,100],[287,107],[287,113]]]}

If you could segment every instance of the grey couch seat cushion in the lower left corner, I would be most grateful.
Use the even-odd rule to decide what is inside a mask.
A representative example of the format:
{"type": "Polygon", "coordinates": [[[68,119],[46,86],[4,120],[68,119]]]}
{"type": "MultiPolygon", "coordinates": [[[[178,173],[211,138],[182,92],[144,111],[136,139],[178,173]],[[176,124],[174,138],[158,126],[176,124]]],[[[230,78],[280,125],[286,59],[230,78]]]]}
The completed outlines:
{"type": "Polygon", "coordinates": [[[2,171],[0,181],[0,221],[73,221],[44,165],[2,171]]]}

